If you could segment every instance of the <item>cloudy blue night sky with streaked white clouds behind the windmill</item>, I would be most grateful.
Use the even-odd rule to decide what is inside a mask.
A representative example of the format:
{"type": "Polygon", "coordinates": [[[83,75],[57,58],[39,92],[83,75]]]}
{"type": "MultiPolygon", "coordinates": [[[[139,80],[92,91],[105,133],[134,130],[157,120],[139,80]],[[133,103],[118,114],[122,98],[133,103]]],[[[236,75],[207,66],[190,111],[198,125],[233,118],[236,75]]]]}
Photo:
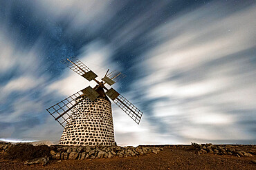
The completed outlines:
{"type": "Polygon", "coordinates": [[[46,109],[92,83],[76,56],[143,111],[112,103],[118,145],[256,144],[256,1],[0,0],[0,140],[58,142],[46,109]]]}

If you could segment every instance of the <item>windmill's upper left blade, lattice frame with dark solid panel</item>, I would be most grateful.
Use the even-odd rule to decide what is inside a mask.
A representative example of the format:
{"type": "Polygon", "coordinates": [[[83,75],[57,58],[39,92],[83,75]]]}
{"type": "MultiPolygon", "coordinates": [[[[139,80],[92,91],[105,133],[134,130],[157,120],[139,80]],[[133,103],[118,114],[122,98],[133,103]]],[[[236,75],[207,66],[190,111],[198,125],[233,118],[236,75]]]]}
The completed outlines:
{"type": "Polygon", "coordinates": [[[64,59],[60,61],[62,64],[66,65],[66,67],[70,68],[80,76],[83,76],[88,81],[94,80],[94,78],[98,77],[93,71],[89,69],[82,61],[77,59],[75,56],[71,56],[68,59],[64,59]]]}

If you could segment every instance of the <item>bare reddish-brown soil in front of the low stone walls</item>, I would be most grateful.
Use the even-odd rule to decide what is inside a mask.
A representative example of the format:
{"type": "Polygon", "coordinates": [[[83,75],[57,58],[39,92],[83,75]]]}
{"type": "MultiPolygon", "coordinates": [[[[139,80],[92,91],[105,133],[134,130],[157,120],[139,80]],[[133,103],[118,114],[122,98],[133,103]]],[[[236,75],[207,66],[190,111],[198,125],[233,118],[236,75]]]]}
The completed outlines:
{"type": "Polygon", "coordinates": [[[241,158],[212,153],[197,155],[185,147],[170,147],[138,158],[50,160],[45,166],[24,165],[18,160],[4,160],[0,155],[0,169],[256,169],[253,160],[256,160],[255,155],[241,158]]]}

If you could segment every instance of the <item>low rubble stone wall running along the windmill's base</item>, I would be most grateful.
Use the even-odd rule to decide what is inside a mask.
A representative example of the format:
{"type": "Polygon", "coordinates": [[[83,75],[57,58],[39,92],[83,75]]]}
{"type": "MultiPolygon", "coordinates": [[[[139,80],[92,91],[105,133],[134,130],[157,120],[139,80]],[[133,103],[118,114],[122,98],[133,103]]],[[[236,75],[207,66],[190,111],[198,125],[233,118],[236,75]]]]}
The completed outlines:
{"type": "MultiPolygon", "coordinates": [[[[15,153],[15,158],[23,158],[23,155],[30,154],[31,156],[36,156],[35,152],[39,146],[30,145],[30,151],[28,151],[29,144],[18,144],[15,148],[15,144],[11,143],[0,143],[0,153],[3,155],[8,155],[10,153],[15,153]],[[19,146],[18,146],[19,145],[19,146]],[[22,149],[24,148],[24,150],[22,149]],[[33,151],[31,151],[33,150],[33,151]],[[13,152],[16,151],[16,152],[13,152]],[[17,153],[18,152],[18,153],[17,153]],[[27,153],[26,153],[27,152],[27,153]]],[[[123,158],[128,156],[143,156],[145,154],[154,153],[158,154],[159,151],[163,151],[163,147],[120,147],[120,146],[86,146],[86,147],[74,147],[74,146],[62,146],[62,145],[52,145],[50,147],[42,145],[44,151],[39,151],[45,153],[44,156],[40,158],[29,157],[30,160],[26,161],[26,164],[33,164],[32,162],[39,163],[42,162],[46,164],[48,160],[84,160],[84,159],[95,159],[95,158],[123,158]],[[45,152],[46,151],[46,152],[45,152]],[[32,158],[32,159],[31,159],[32,158]],[[47,160],[47,161],[46,161],[47,160]]],[[[41,147],[42,147],[41,146],[41,147]]],[[[12,156],[11,156],[12,157],[12,156]]]]}

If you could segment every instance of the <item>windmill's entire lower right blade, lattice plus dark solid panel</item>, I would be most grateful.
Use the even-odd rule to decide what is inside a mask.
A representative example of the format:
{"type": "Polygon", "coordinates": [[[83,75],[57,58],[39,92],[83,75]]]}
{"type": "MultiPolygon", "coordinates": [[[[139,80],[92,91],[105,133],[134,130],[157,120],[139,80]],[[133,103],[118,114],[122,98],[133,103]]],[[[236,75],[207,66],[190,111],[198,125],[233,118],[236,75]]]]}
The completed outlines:
{"type": "Polygon", "coordinates": [[[140,119],[143,116],[143,112],[140,111],[136,106],[134,106],[129,100],[127,100],[124,96],[116,92],[113,88],[109,89],[106,92],[107,96],[113,100],[118,107],[120,107],[123,111],[125,111],[128,116],[130,116],[137,124],[140,123],[140,119]]]}

